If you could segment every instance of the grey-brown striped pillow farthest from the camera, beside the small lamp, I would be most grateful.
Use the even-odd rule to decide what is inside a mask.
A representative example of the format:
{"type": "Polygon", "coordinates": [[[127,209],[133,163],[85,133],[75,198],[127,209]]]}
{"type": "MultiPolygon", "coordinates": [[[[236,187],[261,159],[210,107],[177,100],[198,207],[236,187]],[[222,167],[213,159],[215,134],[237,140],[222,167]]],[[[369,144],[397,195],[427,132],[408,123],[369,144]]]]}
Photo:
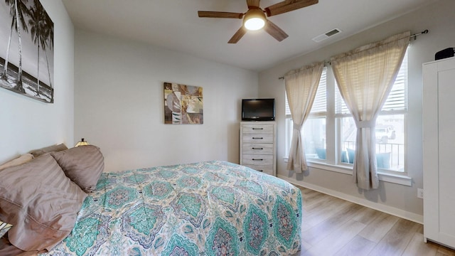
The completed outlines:
{"type": "Polygon", "coordinates": [[[95,190],[98,179],[105,169],[105,158],[100,148],[93,145],[77,146],[50,154],[65,171],[66,176],[83,191],[92,193],[95,190]]]}

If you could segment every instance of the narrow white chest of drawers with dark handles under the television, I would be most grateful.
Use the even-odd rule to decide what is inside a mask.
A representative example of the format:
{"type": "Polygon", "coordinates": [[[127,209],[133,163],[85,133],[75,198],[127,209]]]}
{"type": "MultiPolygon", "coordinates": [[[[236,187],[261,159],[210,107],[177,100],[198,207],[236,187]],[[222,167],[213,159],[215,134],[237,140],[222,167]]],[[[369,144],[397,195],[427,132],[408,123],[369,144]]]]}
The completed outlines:
{"type": "Polygon", "coordinates": [[[240,122],[240,164],[276,176],[276,145],[276,122],[240,122]]]}

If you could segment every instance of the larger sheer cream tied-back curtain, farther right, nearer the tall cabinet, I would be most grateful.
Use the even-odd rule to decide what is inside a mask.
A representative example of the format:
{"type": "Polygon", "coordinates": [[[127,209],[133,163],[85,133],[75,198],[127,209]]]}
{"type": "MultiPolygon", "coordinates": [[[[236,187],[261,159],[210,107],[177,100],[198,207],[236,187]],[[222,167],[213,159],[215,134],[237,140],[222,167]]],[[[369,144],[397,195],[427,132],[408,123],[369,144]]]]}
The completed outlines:
{"type": "Polygon", "coordinates": [[[357,127],[353,179],[359,188],[378,188],[375,123],[410,41],[410,31],[331,58],[343,100],[357,127]]]}

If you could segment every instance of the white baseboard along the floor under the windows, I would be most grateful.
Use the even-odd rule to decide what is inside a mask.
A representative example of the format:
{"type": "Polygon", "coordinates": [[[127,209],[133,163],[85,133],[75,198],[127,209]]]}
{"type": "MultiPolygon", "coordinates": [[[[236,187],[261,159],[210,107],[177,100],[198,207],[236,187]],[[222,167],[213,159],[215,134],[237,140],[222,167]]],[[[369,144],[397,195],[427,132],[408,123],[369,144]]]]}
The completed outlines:
{"type": "Polygon", "coordinates": [[[395,207],[391,207],[391,206],[385,206],[380,203],[374,203],[374,202],[368,201],[363,198],[358,198],[356,196],[350,196],[346,193],[341,193],[339,191],[334,191],[329,188],[324,188],[324,187],[317,186],[317,185],[314,185],[311,183],[306,183],[304,181],[295,181],[291,178],[288,178],[287,176],[278,175],[278,178],[282,178],[284,181],[287,181],[287,182],[292,183],[297,186],[302,186],[304,188],[309,188],[314,191],[325,193],[329,196],[334,196],[336,198],[341,198],[343,200],[346,200],[346,201],[349,201],[352,203],[357,203],[360,206],[365,206],[365,207],[372,208],[375,210],[380,210],[383,213],[395,215],[397,217],[404,218],[405,220],[411,220],[411,221],[414,221],[415,223],[419,223],[419,224],[424,223],[423,215],[419,215],[416,213],[410,213],[410,212],[407,212],[406,210],[401,210],[399,208],[395,208],[395,207]]]}

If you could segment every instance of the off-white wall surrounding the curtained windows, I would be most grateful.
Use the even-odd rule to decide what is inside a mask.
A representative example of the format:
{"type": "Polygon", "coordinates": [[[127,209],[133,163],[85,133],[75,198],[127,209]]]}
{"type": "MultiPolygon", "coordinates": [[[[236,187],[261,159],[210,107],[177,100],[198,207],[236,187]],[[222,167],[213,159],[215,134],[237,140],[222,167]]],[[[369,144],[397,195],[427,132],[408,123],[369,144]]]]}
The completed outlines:
{"type": "MultiPolygon", "coordinates": [[[[417,221],[422,221],[422,199],[417,198],[417,188],[422,181],[422,63],[434,60],[434,53],[455,47],[455,1],[441,0],[413,11],[380,26],[370,28],[355,36],[345,38],[314,52],[301,55],[285,63],[259,73],[259,96],[277,98],[278,122],[278,175],[305,186],[317,188],[336,196],[357,201],[368,206],[387,210],[417,221]],[[332,55],[352,50],[367,43],[380,41],[395,33],[410,30],[419,33],[428,29],[427,35],[412,41],[409,49],[409,112],[407,115],[407,171],[412,186],[380,182],[374,191],[361,191],[352,181],[351,175],[332,171],[311,169],[305,175],[296,175],[286,170],[284,84],[279,77],[287,71],[301,68],[315,61],[328,60],[332,55]]],[[[343,29],[343,28],[341,28],[343,29]]]]}

